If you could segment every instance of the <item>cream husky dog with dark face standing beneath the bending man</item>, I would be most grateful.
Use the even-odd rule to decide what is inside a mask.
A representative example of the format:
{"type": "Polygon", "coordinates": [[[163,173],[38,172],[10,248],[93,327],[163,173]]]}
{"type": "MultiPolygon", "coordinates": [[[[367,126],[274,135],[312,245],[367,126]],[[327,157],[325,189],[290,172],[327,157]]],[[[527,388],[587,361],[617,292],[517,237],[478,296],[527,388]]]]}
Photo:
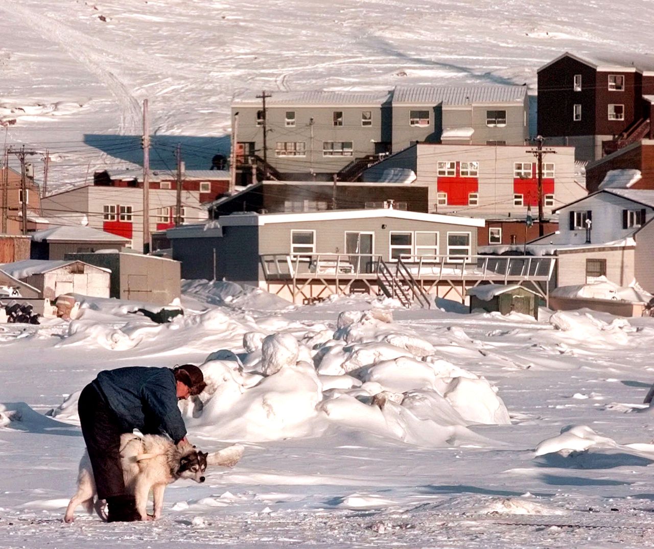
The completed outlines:
{"type": "MultiPolygon", "coordinates": [[[[163,507],[163,491],[167,484],[179,478],[204,482],[207,464],[233,467],[243,455],[243,446],[233,444],[212,454],[198,452],[192,444],[175,445],[162,435],[137,437],[126,433],[120,437],[120,463],[123,469],[125,487],[136,499],[137,512],[141,520],[160,518],[163,507]],[[146,512],[148,493],[152,490],[154,510],[152,516],[146,512]]],[[[77,477],[77,492],[68,504],[65,522],[75,520],[75,508],[82,504],[88,512],[95,512],[107,520],[105,502],[97,500],[95,480],[88,452],[80,460],[77,477]]]]}

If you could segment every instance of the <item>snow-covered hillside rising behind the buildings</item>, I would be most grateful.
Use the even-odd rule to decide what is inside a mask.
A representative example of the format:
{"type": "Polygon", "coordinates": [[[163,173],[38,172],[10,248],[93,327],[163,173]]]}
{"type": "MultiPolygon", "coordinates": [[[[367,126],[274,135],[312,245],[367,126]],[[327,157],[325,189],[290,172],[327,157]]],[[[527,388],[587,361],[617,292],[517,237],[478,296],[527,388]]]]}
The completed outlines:
{"type": "MultiPolygon", "coordinates": [[[[230,101],[245,92],[526,83],[535,93],[536,69],[566,50],[651,69],[651,33],[634,13],[653,20],[654,4],[614,7],[609,0],[3,0],[0,120],[17,121],[7,144],[50,150],[50,190],[139,161],[146,98],[152,166],[174,169],[181,143],[186,167],[207,169],[228,149],[230,101]]],[[[534,116],[535,105],[532,123],[534,116]]],[[[39,181],[41,156],[31,160],[39,181]]]]}

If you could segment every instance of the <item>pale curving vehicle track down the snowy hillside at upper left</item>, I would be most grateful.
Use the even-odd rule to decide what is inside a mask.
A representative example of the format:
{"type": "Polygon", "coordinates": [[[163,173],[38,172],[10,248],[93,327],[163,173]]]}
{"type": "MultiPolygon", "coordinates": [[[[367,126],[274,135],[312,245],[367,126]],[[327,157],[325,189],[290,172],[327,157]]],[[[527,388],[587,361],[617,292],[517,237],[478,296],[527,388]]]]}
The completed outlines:
{"type": "Polygon", "coordinates": [[[22,20],[29,27],[39,31],[44,39],[61,46],[71,58],[97,76],[120,105],[118,133],[120,135],[140,135],[141,105],[120,78],[109,69],[104,68],[107,56],[100,48],[91,45],[94,41],[91,37],[65,26],[45,14],[35,14],[33,10],[24,8],[19,3],[3,0],[0,3],[0,9],[20,15],[22,20]]]}

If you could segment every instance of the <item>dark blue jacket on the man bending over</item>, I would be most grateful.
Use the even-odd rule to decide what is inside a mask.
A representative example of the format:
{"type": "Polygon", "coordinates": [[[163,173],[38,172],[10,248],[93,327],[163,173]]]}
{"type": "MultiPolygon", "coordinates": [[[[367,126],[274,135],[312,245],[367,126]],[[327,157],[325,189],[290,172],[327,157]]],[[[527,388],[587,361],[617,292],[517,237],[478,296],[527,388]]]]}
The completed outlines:
{"type": "Polygon", "coordinates": [[[165,433],[175,442],[186,436],[171,369],[134,366],[105,370],[97,374],[92,385],[105,397],[124,432],[139,429],[144,435],[165,433]]]}

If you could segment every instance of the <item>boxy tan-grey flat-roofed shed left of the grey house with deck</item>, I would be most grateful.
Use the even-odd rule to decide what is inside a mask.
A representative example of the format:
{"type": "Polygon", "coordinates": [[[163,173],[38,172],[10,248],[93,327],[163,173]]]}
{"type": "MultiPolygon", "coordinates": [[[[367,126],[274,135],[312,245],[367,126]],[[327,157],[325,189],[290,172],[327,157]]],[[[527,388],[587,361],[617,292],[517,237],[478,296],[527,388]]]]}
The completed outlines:
{"type": "Polygon", "coordinates": [[[173,259],[113,251],[66,254],[65,259],[109,269],[109,297],[168,305],[181,294],[181,263],[173,259]]]}

